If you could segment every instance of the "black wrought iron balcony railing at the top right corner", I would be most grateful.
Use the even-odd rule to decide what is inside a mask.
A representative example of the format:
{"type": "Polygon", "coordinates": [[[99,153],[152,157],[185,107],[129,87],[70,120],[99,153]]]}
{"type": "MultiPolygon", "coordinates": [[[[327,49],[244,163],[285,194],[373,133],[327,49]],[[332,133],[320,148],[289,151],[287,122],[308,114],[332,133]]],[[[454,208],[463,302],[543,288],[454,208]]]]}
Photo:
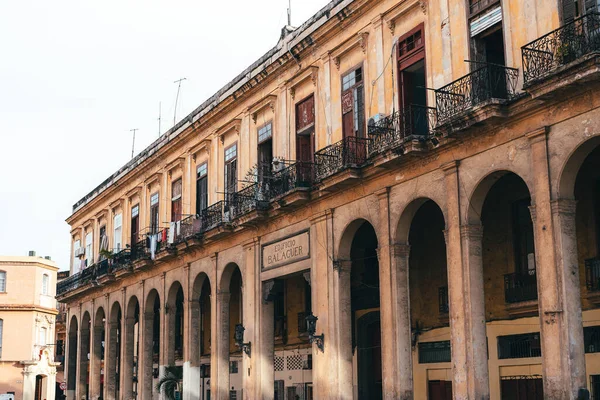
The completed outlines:
{"type": "Polygon", "coordinates": [[[525,85],[586,54],[600,51],[600,14],[589,13],[521,48],[525,85]]]}

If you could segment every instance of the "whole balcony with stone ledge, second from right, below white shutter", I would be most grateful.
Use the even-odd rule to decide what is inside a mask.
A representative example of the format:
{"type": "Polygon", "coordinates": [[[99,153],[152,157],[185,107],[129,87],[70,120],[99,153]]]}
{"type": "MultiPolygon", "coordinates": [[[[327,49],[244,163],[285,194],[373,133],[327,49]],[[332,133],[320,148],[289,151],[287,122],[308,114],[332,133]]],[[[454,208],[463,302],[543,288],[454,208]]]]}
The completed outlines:
{"type": "Polygon", "coordinates": [[[516,97],[519,70],[491,63],[435,91],[437,129],[452,132],[505,117],[503,105],[516,97]]]}

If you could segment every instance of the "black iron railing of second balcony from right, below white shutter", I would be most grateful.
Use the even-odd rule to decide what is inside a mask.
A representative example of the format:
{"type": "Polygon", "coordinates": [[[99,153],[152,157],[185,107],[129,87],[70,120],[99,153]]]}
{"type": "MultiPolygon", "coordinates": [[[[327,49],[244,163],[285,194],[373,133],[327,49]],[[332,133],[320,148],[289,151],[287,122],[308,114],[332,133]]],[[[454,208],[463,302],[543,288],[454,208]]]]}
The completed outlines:
{"type": "Polygon", "coordinates": [[[491,99],[510,100],[516,95],[519,70],[485,63],[435,91],[438,126],[491,99]]]}

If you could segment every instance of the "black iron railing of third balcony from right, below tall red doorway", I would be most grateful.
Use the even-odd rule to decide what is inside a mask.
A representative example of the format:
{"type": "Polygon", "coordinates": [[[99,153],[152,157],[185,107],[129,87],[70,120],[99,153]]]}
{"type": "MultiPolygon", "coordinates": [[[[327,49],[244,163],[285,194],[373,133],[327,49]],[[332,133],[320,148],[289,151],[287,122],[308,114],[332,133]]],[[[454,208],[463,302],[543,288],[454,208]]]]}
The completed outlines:
{"type": "Polygon", "coordinates": [[[411,104],[369,126],[369,157],[402,146],[406,140],[426,139],[435,127],[436,110],[411,104]]]}

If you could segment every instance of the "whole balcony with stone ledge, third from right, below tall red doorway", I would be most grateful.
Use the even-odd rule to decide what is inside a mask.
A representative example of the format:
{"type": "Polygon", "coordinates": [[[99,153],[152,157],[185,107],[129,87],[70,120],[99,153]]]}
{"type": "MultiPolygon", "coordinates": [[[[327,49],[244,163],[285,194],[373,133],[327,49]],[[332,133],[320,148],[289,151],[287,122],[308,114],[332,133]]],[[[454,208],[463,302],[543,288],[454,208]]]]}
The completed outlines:
{"type": "Polygon", "coordinates": [[[427,140],[436,124],[436,110],[432,107],[411,104],[404,110],[369,126],[368,156],[383,156],[375,165],[387,164],[400,155],[415,155],[427,149],[427,140]]]}

